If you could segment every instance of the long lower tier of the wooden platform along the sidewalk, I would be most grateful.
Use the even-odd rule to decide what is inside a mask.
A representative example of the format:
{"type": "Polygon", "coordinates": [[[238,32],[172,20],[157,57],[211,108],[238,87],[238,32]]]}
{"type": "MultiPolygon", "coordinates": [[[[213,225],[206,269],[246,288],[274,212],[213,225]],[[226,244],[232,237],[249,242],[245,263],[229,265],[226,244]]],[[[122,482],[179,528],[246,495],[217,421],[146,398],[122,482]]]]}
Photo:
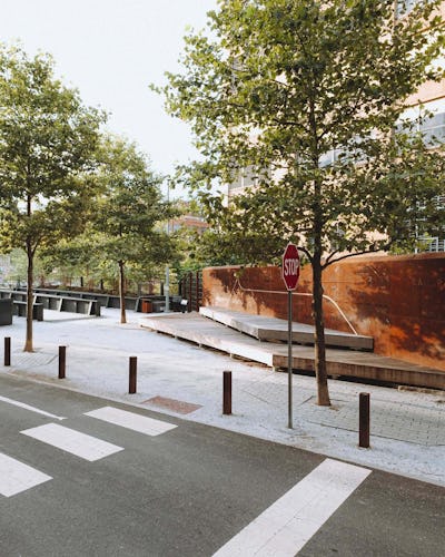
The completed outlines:
{"type": "MultiPolygon", "coordinates": [[[[220,350],[231,356],[263,363],[275,370],[287,368],[287,345],[259,340],[217,323],[199,313],[148,314],[139,320],[142,328],[220,350]]],[[[372,352],[327,349],[327,373],[330,377],[355,378],[392,384],[445,389],[445,373],[372,352]]],[[[314,372],[314,348],[294,345],[294,370],[314,372]]]]}

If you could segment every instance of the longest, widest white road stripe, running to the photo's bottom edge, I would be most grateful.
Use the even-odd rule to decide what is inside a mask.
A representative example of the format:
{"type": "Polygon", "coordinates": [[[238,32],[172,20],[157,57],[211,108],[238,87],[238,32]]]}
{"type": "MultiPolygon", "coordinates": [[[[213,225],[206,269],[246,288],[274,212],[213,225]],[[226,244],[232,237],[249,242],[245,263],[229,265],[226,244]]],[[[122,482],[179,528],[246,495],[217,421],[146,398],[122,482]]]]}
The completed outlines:
{"type": "Polygon", "coordinates": [[[215,557],[294,557],[370,473],[326,459],[215,557]]]}

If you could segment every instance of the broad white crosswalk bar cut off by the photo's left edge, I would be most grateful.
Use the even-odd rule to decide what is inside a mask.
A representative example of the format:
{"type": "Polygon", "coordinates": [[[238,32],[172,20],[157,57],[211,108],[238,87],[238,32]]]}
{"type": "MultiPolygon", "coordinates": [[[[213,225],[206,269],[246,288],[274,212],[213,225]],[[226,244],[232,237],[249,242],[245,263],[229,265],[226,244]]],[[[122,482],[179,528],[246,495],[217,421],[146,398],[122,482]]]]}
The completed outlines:
{"type": "Polygon", "coordinates": [[[0,494],[4,497],[20,494],[51,479],[51,476],[0,452],[0,494]]]}

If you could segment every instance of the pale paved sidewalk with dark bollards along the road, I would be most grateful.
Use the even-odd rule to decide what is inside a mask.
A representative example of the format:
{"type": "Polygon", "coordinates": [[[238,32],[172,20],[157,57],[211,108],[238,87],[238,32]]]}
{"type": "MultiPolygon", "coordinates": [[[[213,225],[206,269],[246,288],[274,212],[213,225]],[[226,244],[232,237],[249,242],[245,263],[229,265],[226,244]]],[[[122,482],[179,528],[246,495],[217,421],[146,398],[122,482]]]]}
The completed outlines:
{"type": "Polygon", "coordinates": [[[24,319],[2,326],[11,367],[0,371],[103,395],[333,458],[445,486],[445,391],[412,392],[329,381],[333,405],[315,404],[315,379],[294,375],[294,429],[287,428],[287,374],[158,334],[119,310],[102,317],[44,312],[33,353],[23,353],[24,319]],[[58,346],[67,379],[58,380],[58,346]],[[128,358],[138,356],[138,392],[128,394],[128,358]],[[222,416],[222,371],[233,371],[233,414],[222,416]],[[370,449],[359,449],[358,393],[370,393],[370,449]]]}

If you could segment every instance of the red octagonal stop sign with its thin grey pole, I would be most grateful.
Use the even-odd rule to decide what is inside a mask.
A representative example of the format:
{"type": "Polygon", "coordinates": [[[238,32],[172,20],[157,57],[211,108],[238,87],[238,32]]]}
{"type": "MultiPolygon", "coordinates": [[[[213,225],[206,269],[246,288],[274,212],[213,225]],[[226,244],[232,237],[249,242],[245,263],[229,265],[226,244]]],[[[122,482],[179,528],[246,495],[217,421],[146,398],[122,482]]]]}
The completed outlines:
{"type": "Polygon", "coordinates": [[[287,289],[287,372],[288,372],[288,428],[293,429],[293,300],[291,293],[299,278],[299,255],[295,244],[287,244],[283,254],[281,276],[287,289]]]}

